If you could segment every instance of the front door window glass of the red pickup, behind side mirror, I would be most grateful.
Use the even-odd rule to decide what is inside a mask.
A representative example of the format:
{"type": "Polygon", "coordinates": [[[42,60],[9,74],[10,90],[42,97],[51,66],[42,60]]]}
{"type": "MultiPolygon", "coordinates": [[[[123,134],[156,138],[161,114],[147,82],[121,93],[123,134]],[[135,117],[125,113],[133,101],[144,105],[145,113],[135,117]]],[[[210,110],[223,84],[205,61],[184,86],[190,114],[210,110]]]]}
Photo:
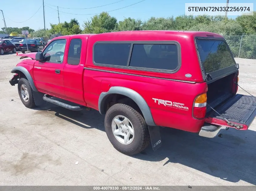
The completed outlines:
{"type": "Polygon", "coordinates": [[[52,41],[43,52],[45,61],[61,64],[63,62],[65,46],[65,39],[52,41]]]}

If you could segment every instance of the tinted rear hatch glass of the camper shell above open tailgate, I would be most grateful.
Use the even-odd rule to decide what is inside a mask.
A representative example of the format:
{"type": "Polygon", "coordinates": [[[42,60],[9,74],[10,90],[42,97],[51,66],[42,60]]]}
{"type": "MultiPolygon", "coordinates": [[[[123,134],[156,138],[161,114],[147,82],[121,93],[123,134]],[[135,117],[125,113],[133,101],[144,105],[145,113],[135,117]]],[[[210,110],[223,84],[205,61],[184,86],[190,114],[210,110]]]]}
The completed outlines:
{"type": "Polygon", "coordinates": [[[196,43],[206,73],[236,64],[224,40],[197,39],[196,43]]]}

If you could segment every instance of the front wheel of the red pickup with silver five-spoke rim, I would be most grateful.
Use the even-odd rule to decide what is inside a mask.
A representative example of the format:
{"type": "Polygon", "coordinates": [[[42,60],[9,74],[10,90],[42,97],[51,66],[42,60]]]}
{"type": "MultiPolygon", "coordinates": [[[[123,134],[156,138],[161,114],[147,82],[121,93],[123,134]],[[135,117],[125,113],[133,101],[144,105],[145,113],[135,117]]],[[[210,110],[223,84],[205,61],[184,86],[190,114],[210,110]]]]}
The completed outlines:
{"type": "Polygon", "coordinates": [[[29,81],[25,78],[20,78],[18,81],[18,93],[25,107],[35,107],[35,101],[32,93],[32,88],[29,81]]]}

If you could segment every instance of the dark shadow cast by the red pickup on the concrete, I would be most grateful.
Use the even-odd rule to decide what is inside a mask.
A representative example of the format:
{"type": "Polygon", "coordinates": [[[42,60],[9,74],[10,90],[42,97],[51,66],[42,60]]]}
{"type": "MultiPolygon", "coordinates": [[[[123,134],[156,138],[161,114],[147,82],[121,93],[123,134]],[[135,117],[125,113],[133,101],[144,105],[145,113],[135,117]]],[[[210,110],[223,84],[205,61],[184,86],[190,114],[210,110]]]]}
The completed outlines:
{"type": "MultiPolygon", "coordinates": [[[[105,116],[96,110],[70,111],[51,103],[40,108],[54,111],[55,116],[82,128],[105,131],[105,116]]],[[[204,138],[197,133],[167,127],[160,128],[160,132],[161,148],[154,152],[149,145],[145,151],[131,157],[144,161],[163,161],[163,166],[178,163],[229,182],[243,180],[256,185],[255,131],[231,128],[221,132],[223,138],[204,138]]]]}

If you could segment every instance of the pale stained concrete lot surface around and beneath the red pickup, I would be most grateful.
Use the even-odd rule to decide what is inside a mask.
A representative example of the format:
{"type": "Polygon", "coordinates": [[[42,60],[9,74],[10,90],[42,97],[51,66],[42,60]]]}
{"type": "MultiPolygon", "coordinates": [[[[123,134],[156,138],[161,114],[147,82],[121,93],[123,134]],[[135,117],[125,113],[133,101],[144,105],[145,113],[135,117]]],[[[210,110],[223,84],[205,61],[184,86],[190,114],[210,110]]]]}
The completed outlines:
{"type": "MultiPolygon", "coordinates": [[[[256,60],[236,60],[239,84],[256,95],[256,60]]],[[[161,128],[158,151],[126,156],[98,111],[24,107],[8,82],[18,61],[0,56],[0,185],[256,185],[256,120],[212,139],[161,128]]]]}

